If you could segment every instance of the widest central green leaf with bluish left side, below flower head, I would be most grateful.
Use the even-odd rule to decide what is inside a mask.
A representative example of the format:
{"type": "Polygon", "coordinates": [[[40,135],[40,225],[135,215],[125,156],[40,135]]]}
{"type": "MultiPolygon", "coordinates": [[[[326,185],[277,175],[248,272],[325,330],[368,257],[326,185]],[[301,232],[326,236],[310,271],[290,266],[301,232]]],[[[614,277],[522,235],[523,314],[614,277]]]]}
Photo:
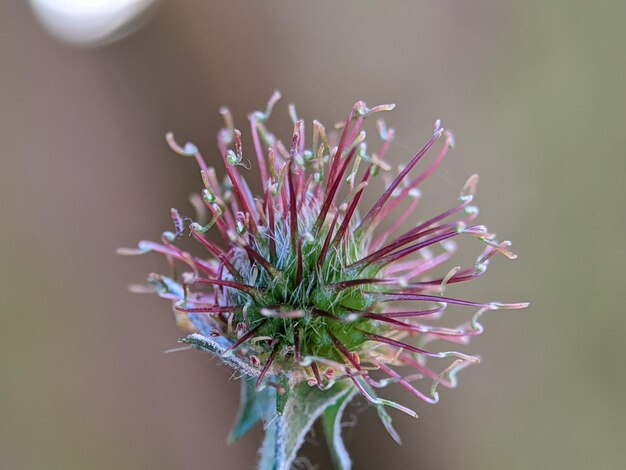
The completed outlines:
{"type": "Polygon", "coordinates": [[[328,390],[307,383],[293,386],[282,414],[272,417],[266,427],[259,470],[289,470],[315,420],[353,391],[347,381],[337,382],[328,390]]]}

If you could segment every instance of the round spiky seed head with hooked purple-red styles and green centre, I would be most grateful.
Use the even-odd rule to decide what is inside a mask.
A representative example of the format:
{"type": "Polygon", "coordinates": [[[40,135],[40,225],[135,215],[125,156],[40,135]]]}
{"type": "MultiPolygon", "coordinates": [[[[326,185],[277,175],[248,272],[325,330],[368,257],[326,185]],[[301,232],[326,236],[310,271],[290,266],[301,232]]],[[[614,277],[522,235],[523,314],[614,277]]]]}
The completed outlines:
{"type": "MultiPolygon", "coordinates": [[[[151,274],[149,281],[159,295],[174,302],[178,324],[192,333],[183,341],[217,354],[251,378],[258,393],[272,389],[278,414],[287,406],[281,397],[298,387],[315,389],[320,396],[328,393],[337,401],[339,392],[346,399],[359,392],[377,407],[398,439],[383,406],[417,415],[379,398],[375,390],[397,383],[419,399],[436,403],[437,385],[454,387],[456,374],[479,359],[432,343],[466,344],[482,333],[478,320],[485,311],[527,304],[461,300],[446,296],[444,290],[482,276],[495,254],[510,259],[515,255],[508,249],[510,242],[497,242],[485,226],[474,224],[476,175],[468,179],[456,206],[415,222],[418,188],[454,144],[439,121],[426,145],[397,176],[388,177],[391,168],[384,158],[393,129],[379,120],[382,143],[369,152],[361,128],[365,119],[393,105],[368,108],[357,102],[339,126],[336,142],[313,121],[308,145],[304,121],[292,106],[294,131],[284,145],[266,128],[279,98],[276,92],[265,112],[249,116],[262,184],[258,197],[242,175],[251,164],[244,157],[241,132],[222,109],[226,127],[217,142],[227,174],[224,181],[220,183],[193,144],[181,147],[168,134],[171,148],[194,157],[200,167],[204,189],[201,199],[192,200],[198,215],[191,220],[172,209],[174,230],[163,233],[161,243],[142,241],[138,249],[121,252],[165,255],[175,274],[151,274]],[[421,174],[411,176],[440,141],[435,158],[421,174]],[[386,189],[361,216],[363,195],[379,175],[386,177],[386,189]],[[412,228],[402,233],[405,222],[412,228]],[[209,232],[219,242],[209,238],[209,232]],[[187,234],[205,249],[203,254],[176,246],[187,234]],[[432,274],[454,255],[454,240],[462,236],[484,245],[475,264],[454,267],[443,276],[432,274]],[[179,265],[185,271],[176,275],[179,265]],[[457,328],[438,326],[436,320],[448,306],[475,313],[457,328]],[[434,367],[435,359],[445,365],[434,367]],[[422,379],[432,382],[429,392],[416,384],[422,379]]],[[[321,411],[311,412],[311,423],[315,413],[331,405],[337,403],[324,402],[321,411]]]]}

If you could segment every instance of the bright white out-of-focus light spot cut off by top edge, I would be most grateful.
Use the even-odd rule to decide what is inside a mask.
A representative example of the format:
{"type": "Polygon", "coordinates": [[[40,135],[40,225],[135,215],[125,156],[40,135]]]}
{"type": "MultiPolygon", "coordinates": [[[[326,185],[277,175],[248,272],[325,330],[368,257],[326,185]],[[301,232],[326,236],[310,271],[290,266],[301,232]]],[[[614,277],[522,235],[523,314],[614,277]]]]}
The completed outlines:
{"type": "Polygon", "coordinates": [[[137,30],[155,0],[29,0],[39,22],[60,40],[100,46],[137,30]]]}

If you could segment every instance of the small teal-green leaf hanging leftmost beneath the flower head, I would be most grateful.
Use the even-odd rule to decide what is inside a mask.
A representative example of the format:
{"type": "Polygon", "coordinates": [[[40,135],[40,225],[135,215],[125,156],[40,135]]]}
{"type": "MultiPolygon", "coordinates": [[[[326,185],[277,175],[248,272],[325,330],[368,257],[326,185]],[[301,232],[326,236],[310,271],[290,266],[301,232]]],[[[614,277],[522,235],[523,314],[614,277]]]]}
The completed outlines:
{"type": "Polygon", "coordinates": [[[270,416],[274,410],[276,390],[272,387],[266,387],[257,392],[255,384],[256,379],[254,377],[243,377],[241,379],[239,415],[228,435],[229,444],[245,436],[261,418],[270,416]]]}

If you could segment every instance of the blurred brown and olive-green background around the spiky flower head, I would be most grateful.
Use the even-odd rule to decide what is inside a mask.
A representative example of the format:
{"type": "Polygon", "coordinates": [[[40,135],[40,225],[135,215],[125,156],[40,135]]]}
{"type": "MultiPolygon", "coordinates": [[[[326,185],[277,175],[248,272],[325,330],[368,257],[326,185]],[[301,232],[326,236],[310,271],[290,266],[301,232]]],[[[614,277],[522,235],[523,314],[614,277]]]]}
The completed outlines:
{"type": "MultiPolygon", "coordinates": [[[[165,132],[212,160],[219,107],[245,127],[274,89],[285,130],[288,102],[327,127],[397,103],[394,163],[443,118],[457,149],[420,217],[478,172],[479,221],[519,255],[455,293],[532,302],[485,318],[439,405],[390,391],[420,414],[394,413],[403,446],[357,402],[355,468],[624,468],[626,3],[135,2],[78,30],[50,3],[0,2],[1,468],[254,468],[260,431],[225,441],[230,371],[164,354],[169,305],[127,292],[163,261],[114,251],[191,213],[165,132]]],[[[328,468],[320,433],[304,454],[328,468]]]]}

